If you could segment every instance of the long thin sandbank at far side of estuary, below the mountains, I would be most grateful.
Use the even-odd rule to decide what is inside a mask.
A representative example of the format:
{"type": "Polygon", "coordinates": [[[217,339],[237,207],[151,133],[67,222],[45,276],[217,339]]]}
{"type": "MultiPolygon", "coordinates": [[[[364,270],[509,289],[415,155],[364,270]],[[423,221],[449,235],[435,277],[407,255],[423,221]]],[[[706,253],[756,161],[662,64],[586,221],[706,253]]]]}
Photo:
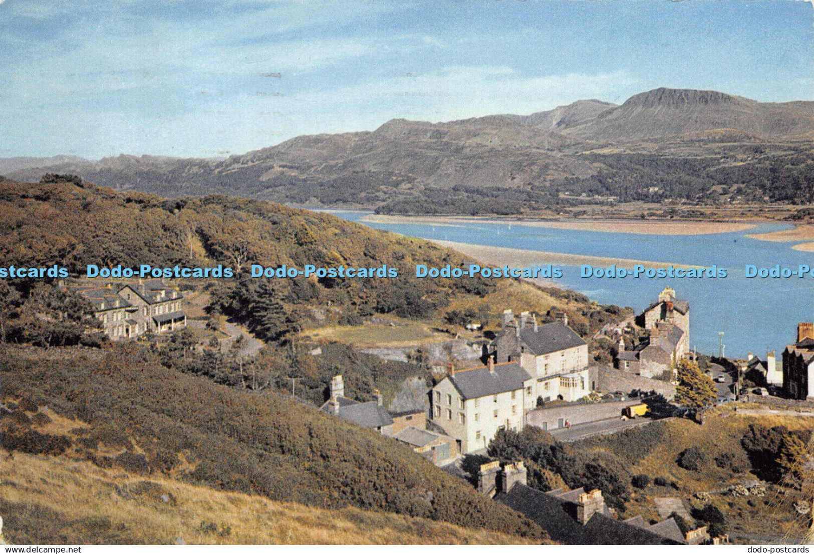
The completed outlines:
{"type": "MultiPolygon", "coordinates": [[[[732,233],[754,229],[757,225],[735,221],[633,221],[633,220],[499,220],[465,216],[386,216],[370,214],[360,219],[362,223],[468,225],[472,223],[501,223],[505,225],[529,225],[551,229],[598,231],[601,233],[635,233],[657,235],[696,235],[732,233]]],[[[771,233],[769,233],[771,234],[771,233]]],[[[814,239],[814,236],[812,236],[814,239]]],[[[772,239],[768,239],[772,240],[772,239]]],[[[777,239],[780,240],[780,239],[777,239]]]]}

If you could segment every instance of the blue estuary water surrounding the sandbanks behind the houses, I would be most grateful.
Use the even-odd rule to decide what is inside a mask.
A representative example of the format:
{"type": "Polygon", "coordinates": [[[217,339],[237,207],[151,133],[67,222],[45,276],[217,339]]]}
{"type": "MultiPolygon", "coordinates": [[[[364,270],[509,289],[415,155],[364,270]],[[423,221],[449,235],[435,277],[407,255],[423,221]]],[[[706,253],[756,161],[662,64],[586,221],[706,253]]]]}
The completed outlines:
{"type": "MultiPolygon", "coordinates": [[[[746,237],[789,229],[792,225],[763,224],[733,233],[654,235],[550,229],[522,223],[369,223],[368,212],[332,212],[374,229],[411,237],[503,246],[529,251],[593,255],[628,260],[726,268],[727,277],[582,277],[579,265],[556,264],[558,286],[578,290],[599,303],[629,306],[641,312],[665,286],[689,301],[690,348],[717,355],[723,332],[724,354],[764,358],[767,350],[781,353],[796,338],[799,321],[814,321],[814,277],[746,277],[746,265],[757,268],[814,267],[814,255],[795,251],[797,242],[769,242],[746,237]]],[[[510,260],[506,260],[510,264],[510,260]]],[[[600,267],[607,267],[606,265],[600,267]]],[[[494,307],[495,309],[499,307],[494,307]]]]}

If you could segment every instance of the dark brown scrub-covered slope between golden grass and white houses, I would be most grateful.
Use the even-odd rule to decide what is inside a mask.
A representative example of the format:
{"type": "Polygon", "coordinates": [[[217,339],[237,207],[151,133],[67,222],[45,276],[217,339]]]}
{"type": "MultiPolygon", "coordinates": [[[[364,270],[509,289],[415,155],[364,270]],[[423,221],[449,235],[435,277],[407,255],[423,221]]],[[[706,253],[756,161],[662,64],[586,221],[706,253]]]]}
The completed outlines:
{"type": "Polygon", "coordinates": [[[321,508],[541,536],[390,438],[291,399],[168,369],[149,347],[3,347],[0,360],[2,401],[12,410],[2,418],[3,447],[15,451],[321,508]]]}

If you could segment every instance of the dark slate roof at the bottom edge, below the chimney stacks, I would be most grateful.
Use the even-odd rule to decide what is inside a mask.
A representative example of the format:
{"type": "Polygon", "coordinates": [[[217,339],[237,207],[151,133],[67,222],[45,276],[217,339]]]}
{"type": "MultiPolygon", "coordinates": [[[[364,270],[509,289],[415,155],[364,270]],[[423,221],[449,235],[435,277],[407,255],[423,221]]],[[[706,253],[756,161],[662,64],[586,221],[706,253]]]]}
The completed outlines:
{"type": "MultiPolygon", "coordinates": [[[[582,492],[580,489],[577,491],[582,492]]],[[[499,492],[495,499],[534,521],[552,540],[563,544],[681,544],[683,540],[654,533],[648,529],[610,517],[610,513],[595,513],[582,525],[575,519],[576,504],[571,491],[553,495],[536,491],[522,483],[509,492],[499,492]]],[[[554,491],[552,491],[554,492],[554,491]]],[[[673,521],[675,523],[675,521],[673,521]]],[[[663,526],[667,530],[669,526],[663,526]]],[[[677,529],[677,526],[676,526],[677,529]]],[[[665,531],[666,532],[666,531],[665,531]]],[[[671,531],[672,532],[672,531],[671,531]]]]}

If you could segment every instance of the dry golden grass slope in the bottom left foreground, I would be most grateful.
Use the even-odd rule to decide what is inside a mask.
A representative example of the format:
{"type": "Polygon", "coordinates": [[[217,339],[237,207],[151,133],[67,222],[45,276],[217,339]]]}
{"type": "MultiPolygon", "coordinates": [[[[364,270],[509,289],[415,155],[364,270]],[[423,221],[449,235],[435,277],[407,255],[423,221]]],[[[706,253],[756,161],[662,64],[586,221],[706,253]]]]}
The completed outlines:
{"type": "Polygon", "coordinates": [[[330,511],[141,478],[84,461],[12,457],[2,450],[0,456],[3,531],[11,543],[523,543],[507,534],[417,517],[357,508],[330,511]],[[50,528],[54,536],[49,537],[50,528]]]}

